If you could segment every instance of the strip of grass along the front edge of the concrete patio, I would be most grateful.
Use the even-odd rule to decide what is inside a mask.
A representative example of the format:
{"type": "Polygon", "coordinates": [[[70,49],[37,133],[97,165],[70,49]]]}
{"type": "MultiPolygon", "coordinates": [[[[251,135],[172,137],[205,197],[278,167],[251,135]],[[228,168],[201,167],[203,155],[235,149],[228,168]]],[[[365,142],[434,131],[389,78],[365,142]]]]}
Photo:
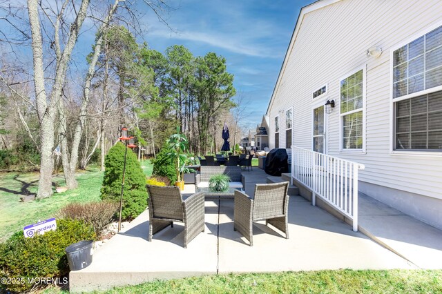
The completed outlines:
{"type": "MultiPolygon", "coordinates": [[[[60,291],[51,288],[46,293],[60,291]]],[[[209,275],[97,293],[442,293],[442,271],[339,270],[209,275]]]]}

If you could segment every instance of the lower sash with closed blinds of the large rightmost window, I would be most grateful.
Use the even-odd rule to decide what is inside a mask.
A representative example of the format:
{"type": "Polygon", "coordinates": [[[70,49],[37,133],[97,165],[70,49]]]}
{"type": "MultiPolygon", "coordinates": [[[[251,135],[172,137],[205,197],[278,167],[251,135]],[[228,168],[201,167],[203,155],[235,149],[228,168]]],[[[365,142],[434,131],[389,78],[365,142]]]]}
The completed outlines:
{"type": "Polygon", "coordinates": [[[442,150],[442,91],[395,104],[396,150],[442,150]]]}

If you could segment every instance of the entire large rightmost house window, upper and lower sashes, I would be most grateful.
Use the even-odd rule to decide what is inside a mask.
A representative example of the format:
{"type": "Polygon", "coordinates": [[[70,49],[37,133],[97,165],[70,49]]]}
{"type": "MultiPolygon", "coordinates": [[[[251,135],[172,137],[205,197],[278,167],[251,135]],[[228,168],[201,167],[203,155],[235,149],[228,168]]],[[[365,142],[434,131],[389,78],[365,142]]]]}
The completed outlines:
{"type": "Polygon", "coordinates": [[[394,150],[441,151],[442,26],[394,50],[392,67],[394,150]]]}

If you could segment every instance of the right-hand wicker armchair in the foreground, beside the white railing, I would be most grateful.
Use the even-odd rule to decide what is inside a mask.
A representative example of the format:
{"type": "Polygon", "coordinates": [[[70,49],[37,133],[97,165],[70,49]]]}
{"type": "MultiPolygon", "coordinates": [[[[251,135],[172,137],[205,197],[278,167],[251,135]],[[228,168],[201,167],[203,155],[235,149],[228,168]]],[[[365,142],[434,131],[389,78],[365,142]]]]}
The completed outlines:
{"type": "Polygon", "coordinates": [[[238,190],[235,191],[233,210],[233,230],[240,232],[253,246],[253,222],[265,219],[285,233],[289,239],[287,223],[289,212],[289,182],[276,184],[256,184],[255,196],[249,197],[238,190]]]}

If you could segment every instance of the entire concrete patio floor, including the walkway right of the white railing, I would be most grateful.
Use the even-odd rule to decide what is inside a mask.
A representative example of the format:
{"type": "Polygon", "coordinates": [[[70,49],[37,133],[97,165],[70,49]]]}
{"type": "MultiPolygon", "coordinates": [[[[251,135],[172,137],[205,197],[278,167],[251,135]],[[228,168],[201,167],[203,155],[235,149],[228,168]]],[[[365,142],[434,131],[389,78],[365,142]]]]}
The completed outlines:
{"type": "MultiPolygon", "coordinates": [[[[253,195],[256,183],[267,181],[265,172],[258,168],[242,174],[249,195],[253,195]]],[[[194,189],[194,185],[186,185],[184,193],[193,193],[194,189]]],[[[377,242],[390,244],[387,248],[394,247],[405,258],[296,196],[289,201],[289,239],[264,222],[257,222],[251,247],[233,231],[233,200],[223,199],[205,202],[206,229],[186,249],[180,224],[166,228],[148,242],[146,210],[95,252],[88,268],[70,272],[70,291],[231,272],[442,268],[441,231],[373,200],[360,198],[359,224],[372,232],[377,242]],[[421,253],[413,253],[416,248],[421,253]]]]}

